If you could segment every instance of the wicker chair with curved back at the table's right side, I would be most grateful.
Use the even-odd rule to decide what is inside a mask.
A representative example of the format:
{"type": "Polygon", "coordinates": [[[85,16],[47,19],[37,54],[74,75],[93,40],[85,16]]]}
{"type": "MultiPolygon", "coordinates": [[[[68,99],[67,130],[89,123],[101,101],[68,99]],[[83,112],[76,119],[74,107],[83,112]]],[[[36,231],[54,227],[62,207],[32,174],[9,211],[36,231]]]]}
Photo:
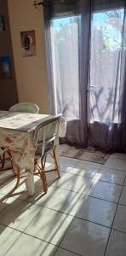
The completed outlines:
{"type": "Polygon", "coordinates": [[[55,140],[58,137],[59,125],[60,115],[50,117],[48,121],[38,125],[36,131],[34,132],[33,142],[35,145],[37,145],[34,162],[34,175],[41,177],[43,183],[43,191],[45,193],[48,191],[46,173],[57,172],[57,175],[60,178],[60,170],[55,151],[55,140]],[[47,154],[51,154],[51,156],[54,158],[54,169],[50,169],[49,171],[45,170],[47,154]],[[41,166],[38,164],[38,160],[41,160],[41,166]]]}

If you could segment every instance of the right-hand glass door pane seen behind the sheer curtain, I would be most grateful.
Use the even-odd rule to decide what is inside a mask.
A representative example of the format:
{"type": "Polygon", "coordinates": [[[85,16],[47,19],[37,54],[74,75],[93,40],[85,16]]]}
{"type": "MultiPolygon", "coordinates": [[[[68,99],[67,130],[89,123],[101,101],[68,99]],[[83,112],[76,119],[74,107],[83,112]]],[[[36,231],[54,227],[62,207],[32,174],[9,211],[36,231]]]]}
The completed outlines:
{"type": "Polygon", "coordinates": [[[118,122],[123,9],[93,14],[90,57],[90,122],[118,122]]]}

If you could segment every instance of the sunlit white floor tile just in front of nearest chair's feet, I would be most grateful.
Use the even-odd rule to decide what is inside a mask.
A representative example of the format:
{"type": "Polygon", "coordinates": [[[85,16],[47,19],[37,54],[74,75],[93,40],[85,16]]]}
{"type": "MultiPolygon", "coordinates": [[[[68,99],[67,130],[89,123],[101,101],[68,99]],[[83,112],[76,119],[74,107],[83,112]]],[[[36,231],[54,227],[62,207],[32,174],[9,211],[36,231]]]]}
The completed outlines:
{"type": "Polygon", "coordinates": [[[75,192],[51,187],[46,195],[30,197],[29,201],[43,207],[49,207],[55,211],[75,215],[79,207],[79,198],[80,194],[75,192]]]}

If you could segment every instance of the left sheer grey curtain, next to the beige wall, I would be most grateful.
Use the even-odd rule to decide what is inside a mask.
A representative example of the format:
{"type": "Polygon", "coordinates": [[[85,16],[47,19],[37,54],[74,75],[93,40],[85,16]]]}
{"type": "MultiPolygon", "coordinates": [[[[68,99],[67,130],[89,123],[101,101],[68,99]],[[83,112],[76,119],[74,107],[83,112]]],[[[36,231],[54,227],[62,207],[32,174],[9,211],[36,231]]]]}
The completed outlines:
{"type": "MultiPolygon", "coordinates": [[[[62,113],[66,119],[66,137],[60,141],[84,148],[88,145],[87,85],[89,79],[89,37],[91,22],[89,0],[84,1],[84,5],[83,1],[77,0],[67,0],[64,3],[60,1],[45,1],[44,18],[47,64],[49,68],[50,112],[62,113]],[[71,27],[69,24],[67,27],[64,24],[62,27],[60,26],[61,32],[63,30],[64,33],[66,33],[65,30],[68,32],[67,35],[63,36],[67,40],[67,43],[65,42],[66,46],[63,43],[64,45],[58,45],[58,50],[55,49],[56,62],[58,63],[58,67],[55,70],[55,82],[53,73],[54,63],[52,60],[53,46],[51,45],[51,21],[54,18],[63,17],[66,17],[66,20],[69,17],[71,27]],[[75,44],[73,43],[74,41],[76,41],[75,44]],[[62,51],[64,55],[61,55],[62,51]],[[72,60],[71,56],[73,56],[72,60]],[[61,66],[61,60],[64,61],[64,67],[61,66]],[[61,67],[61,72],[59,67],[61,67]],[[70,73],[72,79],[70,78],[70,73]],[[56,104],[54,99],[54,83],[56,83],[56,104]]],[[[56,44],[58,39],[58,37],[55,39],[54,44],[56,44]]],[[[60,40],[63,39],[61,38],[60,40]]]]}

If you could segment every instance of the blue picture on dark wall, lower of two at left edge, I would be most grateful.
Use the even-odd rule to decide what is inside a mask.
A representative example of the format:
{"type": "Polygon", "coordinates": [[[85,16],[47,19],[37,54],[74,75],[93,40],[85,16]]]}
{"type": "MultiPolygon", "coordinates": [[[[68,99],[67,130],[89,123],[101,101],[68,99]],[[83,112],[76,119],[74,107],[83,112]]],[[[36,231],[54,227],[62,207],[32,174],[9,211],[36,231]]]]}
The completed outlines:
{"type": "Polygon", "coordinates": [[[9,56],[0,56],[0,79],[11,79],[11,61],[9,56]]]}

